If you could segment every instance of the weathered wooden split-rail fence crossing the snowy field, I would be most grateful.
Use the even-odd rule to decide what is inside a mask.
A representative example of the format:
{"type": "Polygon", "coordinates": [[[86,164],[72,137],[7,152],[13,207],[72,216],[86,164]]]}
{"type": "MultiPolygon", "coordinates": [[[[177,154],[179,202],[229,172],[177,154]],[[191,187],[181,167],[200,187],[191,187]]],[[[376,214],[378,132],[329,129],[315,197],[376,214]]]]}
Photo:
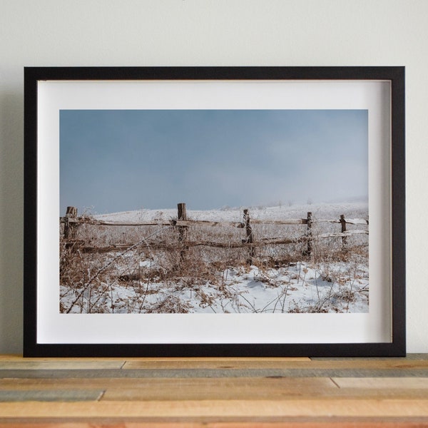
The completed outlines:
{"type": "MultiPolygon", "coordinates": [[[[340,224],[340,232],[336,233],[322,233],[317,234],[316,238],[341,238],[342,245],[345,248],[347,245],[347,238],[351,235],[368,235],[368,228],[365,229],[354,229],[347,230],[347,225],[365,225],[368,226],[369,220],[362,218],[347,219],[345,215],[340,215],[338,219],[332,220],[317,220],[317,222],[327,223],[338,223],[340,224]]],[[[189,220],[187,217],[185,203],[178,204],[177,218],[172,220],[160,220],[160,221],[108,221],[108,220],[97,220],[91,217],[78,217],[77,208],[68,207],[66,215],[60,218],[60,223],[63,224],[63,240],[68,245],[76,245],[81,248],[85,253],[108,253],[112,251],[121,251],[131,248],[135,244],[118,244],[111,245],[108,247],[90,247],[86,245],[84,241],[77,240],[78,226],[82,224],[86,225],[98,225],[98,226],[172,226],[178,228],[178,239],[180,241],[180,255],[185,255],[185,250],[191,246],[205,245],[209,247],[217,248],[248,248],[249,261],[255,256],[255,249],[265,245],[286,245],[296,243],[306,243],[304,253],[310,255],[312,253],[313,243],[315,236],[312,234],[314,220],[312,219],[312,213],[308,212],[306,218],[295,218],[295,219],[284,219],[284,220],[259,220],[250,218],[250,211],[248,209],[243,210],[243,221],[230,222],[230,221],[210,221],[210,220],[189,220]],[[191,241],[188,239],[188,228],[200,225],[210,227],[233,227],[245,229],[245,239],[241,242],[235,243],[221,243],[213,242],[208,240],[191,241]],[[253,234],[253,225],[305,225],[305,233],[298,238],[260,238],[255,241],[253,234]]],[[[150,243],[153,249],[163,250],[177,250],[177,245],[168,245],[164,243],[150,243]]]]}

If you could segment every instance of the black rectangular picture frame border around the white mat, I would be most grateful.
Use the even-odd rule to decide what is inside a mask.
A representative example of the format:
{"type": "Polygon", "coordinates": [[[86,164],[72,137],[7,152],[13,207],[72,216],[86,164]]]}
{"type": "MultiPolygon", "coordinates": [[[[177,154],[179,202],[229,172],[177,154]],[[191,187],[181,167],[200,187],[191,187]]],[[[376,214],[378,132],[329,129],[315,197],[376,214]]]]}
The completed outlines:
{"type": "MultiPolygon", "coordinates": [[[[400,357],[405,327],[405,128],[403,66],[341,67],[26,67],[24,69],[24,357],[400,357]],[[41,82],[97,81],[386,81],[390,84],[390,332],[382,342],[44,342],[39,340],[41,236],[38,230],[41,82]]],[[[76,315],[71,315],[76,317],[76,315]]],[[[77,315],[78,316],[78,315],[77,315]]]]}

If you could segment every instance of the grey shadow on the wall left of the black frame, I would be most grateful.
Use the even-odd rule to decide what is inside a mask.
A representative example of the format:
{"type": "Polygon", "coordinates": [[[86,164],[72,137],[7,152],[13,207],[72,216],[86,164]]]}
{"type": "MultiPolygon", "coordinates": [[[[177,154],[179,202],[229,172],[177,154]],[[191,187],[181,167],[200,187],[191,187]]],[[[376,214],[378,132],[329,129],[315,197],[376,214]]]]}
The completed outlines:
{"type": "Polygon", "coordinates": [[[0,352],[21,353],[24,252],[24,96],[0,93],[0,352]]]}

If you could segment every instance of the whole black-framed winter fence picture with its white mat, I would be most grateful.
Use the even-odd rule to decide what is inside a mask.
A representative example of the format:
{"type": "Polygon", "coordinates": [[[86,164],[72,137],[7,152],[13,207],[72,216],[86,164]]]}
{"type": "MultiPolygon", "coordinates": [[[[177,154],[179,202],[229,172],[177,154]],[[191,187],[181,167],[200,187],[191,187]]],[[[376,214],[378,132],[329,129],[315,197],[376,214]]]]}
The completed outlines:
{"type": "Polygon", "coordinates": [[[405,355],[404,67],[24,78],[24,356],[405,355]]]}

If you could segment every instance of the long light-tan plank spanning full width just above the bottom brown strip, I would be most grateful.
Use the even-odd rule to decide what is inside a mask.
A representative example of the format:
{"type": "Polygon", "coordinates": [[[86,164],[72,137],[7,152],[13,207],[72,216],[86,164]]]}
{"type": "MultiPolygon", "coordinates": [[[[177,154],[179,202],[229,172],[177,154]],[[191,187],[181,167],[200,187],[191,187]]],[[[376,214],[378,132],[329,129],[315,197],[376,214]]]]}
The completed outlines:
{"type": "Polygon", "coordinates": [[[3,418],[428,417],[428,399],[186,400],[0,403],[3,418]]]}

